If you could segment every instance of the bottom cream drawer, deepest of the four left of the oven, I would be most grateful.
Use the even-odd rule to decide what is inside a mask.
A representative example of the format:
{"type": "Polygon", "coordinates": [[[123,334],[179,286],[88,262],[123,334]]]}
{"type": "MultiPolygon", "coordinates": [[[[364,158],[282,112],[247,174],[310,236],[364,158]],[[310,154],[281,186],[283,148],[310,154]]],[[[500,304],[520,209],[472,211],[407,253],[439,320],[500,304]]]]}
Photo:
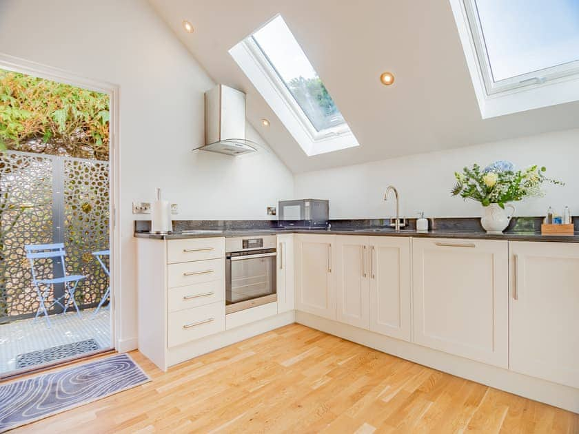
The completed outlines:
{"type": "Polygon", "coordinates": [[[225,302],[169,314],[167,346],[175,347],[225,330],[225,302]]]}

